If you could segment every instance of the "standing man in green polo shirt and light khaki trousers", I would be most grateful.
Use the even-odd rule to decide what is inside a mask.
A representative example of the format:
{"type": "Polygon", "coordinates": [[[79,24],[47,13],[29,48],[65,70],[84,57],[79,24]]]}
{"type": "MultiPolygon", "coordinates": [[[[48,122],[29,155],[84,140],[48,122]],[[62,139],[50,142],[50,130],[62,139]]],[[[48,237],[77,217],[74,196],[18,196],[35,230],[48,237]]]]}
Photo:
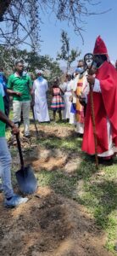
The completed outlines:
{"type": "Polygon", "coordinates": [[[20,113],[23,112],[25,137],[30,137],[30,106],[32,92],[31,78],[23,75],[22,61],[15,64],[15,73],[8,78],[8,94],[13,96],[14,123],[20,123],[20,113]]]}

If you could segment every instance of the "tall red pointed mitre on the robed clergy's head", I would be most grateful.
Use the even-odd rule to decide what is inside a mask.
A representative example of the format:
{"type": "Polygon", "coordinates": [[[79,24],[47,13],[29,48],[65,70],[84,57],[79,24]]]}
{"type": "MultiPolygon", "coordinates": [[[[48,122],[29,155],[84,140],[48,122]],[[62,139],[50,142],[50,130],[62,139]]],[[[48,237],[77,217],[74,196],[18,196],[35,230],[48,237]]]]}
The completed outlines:
{"type": "Polygon", "coordinates": [[[107,55],[108,56],[108,50],[100,36],[98,36],[96,39],[95,47],[93,49],[93,55],[107,55]]]}

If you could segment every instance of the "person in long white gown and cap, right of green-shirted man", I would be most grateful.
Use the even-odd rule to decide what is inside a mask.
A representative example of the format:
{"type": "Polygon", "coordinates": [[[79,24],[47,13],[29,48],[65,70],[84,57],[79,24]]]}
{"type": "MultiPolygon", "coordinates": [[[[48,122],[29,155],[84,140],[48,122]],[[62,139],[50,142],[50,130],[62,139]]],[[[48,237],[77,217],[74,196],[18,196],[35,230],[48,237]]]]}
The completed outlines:
{"type": "Polygon", "coordinates": [[[47,108],[47,80],[42,77],[42,70],[36,69],[37,79],[33,83],[33,92],[35,94],[34,113],[39,122],[49,122],[49,113],[47,108]]]}

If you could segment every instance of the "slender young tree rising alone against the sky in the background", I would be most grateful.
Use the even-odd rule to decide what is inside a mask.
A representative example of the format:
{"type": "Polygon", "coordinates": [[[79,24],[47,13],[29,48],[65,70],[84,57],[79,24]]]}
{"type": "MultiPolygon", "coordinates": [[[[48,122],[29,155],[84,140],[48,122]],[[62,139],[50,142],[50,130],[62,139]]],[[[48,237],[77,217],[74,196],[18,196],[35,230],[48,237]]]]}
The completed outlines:
{"type": "Polygon", "coordinates": [[[58,53],[57,60],[66,61],[67,72],[70,69],[71,63],[81,55],[81,51],[77,49],[70,49],[70,38],[68,38],[67,32],[62,31],[61,33],[61,51],[58,53]]]}

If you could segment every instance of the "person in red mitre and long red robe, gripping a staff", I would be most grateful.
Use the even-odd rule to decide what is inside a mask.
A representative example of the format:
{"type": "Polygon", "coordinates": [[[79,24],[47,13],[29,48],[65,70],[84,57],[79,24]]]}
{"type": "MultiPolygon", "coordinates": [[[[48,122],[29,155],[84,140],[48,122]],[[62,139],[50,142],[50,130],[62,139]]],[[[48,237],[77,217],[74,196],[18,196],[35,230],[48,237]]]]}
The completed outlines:
{"type": "MultiPolygon", "coordinates": [[[[93,59],[97,64],[96,77],[88,75],[87,81],[92,84],[93,90],[97,154],[101,162],[106,160],[106,163],[112,164],[113,155],[117,152],[117,73],[109,62],[108,50],[100,36],[95,43],[93,59]]],[[[95,154],[90,94],[82,150],[95,154]]]]}

